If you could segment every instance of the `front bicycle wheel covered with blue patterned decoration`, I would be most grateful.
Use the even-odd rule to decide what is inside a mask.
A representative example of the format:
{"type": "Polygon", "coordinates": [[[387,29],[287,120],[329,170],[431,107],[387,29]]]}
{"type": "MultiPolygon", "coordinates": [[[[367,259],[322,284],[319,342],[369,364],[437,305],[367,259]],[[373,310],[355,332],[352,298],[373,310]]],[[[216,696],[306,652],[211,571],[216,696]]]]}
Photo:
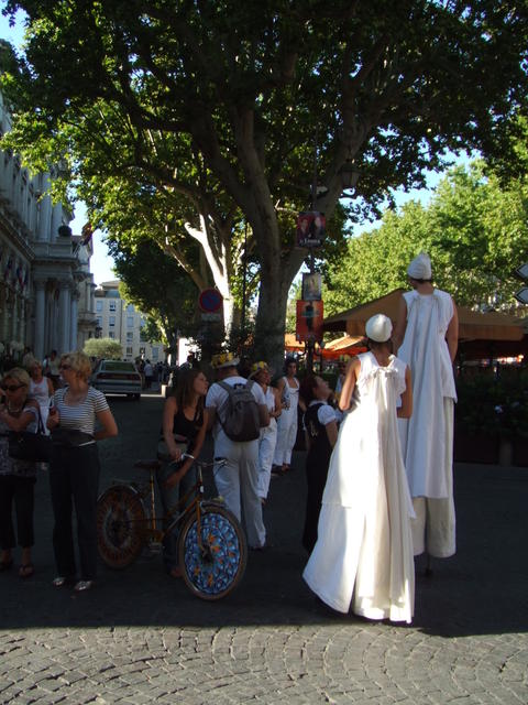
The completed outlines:
{"type": "Polygon", "coordinates": [[[229,595],[242,579],[248,547],[237,518],[224,507],[206,503],[200,527],[193,512],[182,528],[178,555],[187,587],[198,597],[213,600],[229,595]]]}

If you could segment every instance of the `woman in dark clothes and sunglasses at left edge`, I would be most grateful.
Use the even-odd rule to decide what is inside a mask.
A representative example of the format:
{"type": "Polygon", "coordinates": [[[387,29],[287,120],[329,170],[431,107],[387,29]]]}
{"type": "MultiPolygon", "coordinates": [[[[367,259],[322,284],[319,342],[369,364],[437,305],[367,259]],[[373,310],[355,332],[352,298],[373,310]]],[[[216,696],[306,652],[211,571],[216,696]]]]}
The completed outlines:
{"type": "Polygon", "coordinates": [[[13,565],[15,546],[13,506],[16,514],[16,539],[22,547],[19,575],[33,575],[31,550],[34,544],[33,510],[36,464],[9,456],[10,431],[36,431],[38,406],[28,399],[30,376],[22,368],[6,372],[0,387],[0,572],[13,565]]]}

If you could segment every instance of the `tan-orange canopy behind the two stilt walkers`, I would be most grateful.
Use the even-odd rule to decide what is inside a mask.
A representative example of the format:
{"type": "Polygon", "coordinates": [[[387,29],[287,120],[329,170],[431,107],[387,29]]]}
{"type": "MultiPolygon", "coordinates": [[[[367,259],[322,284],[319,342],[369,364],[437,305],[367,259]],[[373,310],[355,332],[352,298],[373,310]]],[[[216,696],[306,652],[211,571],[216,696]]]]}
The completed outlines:
{"type": "MultiPolygon", "coordinates": [[[[395,289],[385,296],[329,316],[322,327],[324,330],[345,330],[350,336],[361,336],[365,334],[366,321],[376,313],[385,314],[395,324],[404,291],[395,289]]],[[[524,322],[519,318],[495,311],[479,313],[465,306],[458,306],[458,312],[461,356],[475,358],[527,354],[528,340],[524,322]]]]}

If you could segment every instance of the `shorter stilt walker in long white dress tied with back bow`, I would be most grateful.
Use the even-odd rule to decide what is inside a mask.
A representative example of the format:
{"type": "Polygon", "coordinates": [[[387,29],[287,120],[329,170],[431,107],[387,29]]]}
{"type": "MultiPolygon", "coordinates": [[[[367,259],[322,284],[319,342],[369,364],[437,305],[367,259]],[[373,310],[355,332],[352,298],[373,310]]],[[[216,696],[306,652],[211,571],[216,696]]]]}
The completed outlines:
{"type": "Polygon", "coordinates": [[[367,619],[410,622],[414,516],[397,416],[413,412],[407,366],[391,354],[391,319],[366,322],[370,351],[348,368],[348,410],[330,458],[318,540],[302,574],[333,609],[367,619]],[[400,405],[398,408],[398,403],[400,405]]]}

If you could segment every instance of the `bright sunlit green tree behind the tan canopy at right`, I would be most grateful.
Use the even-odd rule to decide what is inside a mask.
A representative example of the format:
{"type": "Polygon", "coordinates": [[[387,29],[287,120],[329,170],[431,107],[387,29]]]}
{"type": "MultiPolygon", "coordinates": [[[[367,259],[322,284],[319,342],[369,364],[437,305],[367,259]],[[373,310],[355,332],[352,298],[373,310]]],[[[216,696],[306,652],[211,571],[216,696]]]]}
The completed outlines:
{"type": "Polygon", "coordinates": [[[485,164],[451,170],[427,206],[387,210],[380,228],[349,242],[328,271],[327,313],[338,313],[407,286],[407,265],[431,256],[435,281],[466,306],[516,308],[514,269],[528,260],[528,186],[501,186],[485,164]]]}

